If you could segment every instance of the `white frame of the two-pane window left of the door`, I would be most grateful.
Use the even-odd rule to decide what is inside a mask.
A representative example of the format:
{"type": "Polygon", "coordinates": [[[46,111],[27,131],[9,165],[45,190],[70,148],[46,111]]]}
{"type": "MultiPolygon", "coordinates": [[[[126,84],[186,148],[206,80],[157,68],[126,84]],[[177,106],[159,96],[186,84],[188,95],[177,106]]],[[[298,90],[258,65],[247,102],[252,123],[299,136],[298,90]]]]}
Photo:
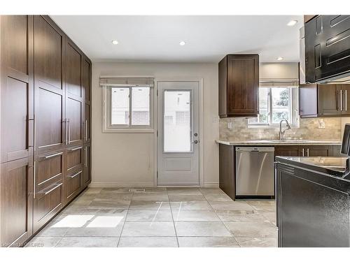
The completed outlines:
{"type": "MultiPolygon", "coordinates": [[[[113,86],[117,87],[117,86],[113,86]]],[[[102,131],[104,133],[154,133],[154,87],[150,87],[150,124],[148,126],[132,125],[132,88],[148,87],[146,85],[120,85],[121,88],[129,88],[130,124],[111,124],[111,86],[102,87],[102,131]]]]}

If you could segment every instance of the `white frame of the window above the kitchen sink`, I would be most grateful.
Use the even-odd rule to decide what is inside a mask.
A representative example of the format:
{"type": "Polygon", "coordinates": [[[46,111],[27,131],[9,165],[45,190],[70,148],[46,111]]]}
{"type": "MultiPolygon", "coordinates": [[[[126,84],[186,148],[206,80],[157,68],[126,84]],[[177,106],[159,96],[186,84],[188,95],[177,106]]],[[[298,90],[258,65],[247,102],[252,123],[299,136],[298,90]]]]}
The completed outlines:
{"type": "MultiPolygon", "coordinates": [[[[249,127],[271,127],[271,126],[279,126],[279,123],[273,123],[272,122],[272,89],[273,88],[283,88],[283,87],[259,87],[259,88],[266,88],[269,89],[268,92],[268,104],[267,104],[267,111],[268,111],[268,122],[262,123],[248,123],[249,127]]],[[[286,87],[284,87],[286,88],[286,87]]],[[[293,88],[297,87],[287,87],[289,89],[289,124],[290,126],[299,126],[298,119],[293,119],[293,100],[295,99],[295,94],[293,95],[293,88]]]]}

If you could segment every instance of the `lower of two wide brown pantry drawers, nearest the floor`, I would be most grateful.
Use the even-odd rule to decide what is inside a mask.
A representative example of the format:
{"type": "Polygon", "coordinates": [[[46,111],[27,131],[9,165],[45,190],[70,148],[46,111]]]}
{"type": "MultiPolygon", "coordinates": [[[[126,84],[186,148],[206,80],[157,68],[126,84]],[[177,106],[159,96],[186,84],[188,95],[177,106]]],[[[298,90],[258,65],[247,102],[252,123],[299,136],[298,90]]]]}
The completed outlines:
{"type": "Polygon", "coordinates": [[[34,205],[34,231],[41,228],[62,208],[63,182],[58,180],[36,194],[34,205]]]}

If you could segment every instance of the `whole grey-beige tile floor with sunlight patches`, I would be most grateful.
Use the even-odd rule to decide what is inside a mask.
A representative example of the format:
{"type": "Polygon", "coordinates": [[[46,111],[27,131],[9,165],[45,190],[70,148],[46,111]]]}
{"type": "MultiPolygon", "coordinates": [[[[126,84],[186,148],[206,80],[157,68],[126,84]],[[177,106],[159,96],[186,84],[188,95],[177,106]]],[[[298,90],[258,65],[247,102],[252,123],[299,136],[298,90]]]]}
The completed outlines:
{"type": "Polygon", "coordinates": [[[27,247],[276,247],[274,201],[221,189],[90,188],[27,247]]]}

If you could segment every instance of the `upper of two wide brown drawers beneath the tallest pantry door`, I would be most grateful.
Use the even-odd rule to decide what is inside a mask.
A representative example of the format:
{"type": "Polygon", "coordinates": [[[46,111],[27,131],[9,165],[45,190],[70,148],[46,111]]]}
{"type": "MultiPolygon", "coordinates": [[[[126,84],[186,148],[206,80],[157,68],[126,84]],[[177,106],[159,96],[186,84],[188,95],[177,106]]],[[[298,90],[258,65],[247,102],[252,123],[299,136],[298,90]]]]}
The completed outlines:
{"type": "Polygon", "coordinates": [[[64,154],[61,152],[52,152],[41,155],[36,161],[36,192],[50,186],[53,180],[62,180],[64,173],[64,154]]]}

